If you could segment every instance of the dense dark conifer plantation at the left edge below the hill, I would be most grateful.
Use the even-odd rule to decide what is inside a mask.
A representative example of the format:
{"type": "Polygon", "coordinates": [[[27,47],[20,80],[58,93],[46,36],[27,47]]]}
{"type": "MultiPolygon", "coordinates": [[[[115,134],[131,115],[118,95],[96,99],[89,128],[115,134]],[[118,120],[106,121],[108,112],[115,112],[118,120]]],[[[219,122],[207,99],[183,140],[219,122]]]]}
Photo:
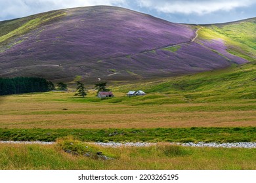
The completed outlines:
{"type": "Polygon", "coordinates": [[[54,89],[54,84],[51,81],[45,80],[45,78],[0,78],[0,95],[31,92],[49,92],[54,89]]]}

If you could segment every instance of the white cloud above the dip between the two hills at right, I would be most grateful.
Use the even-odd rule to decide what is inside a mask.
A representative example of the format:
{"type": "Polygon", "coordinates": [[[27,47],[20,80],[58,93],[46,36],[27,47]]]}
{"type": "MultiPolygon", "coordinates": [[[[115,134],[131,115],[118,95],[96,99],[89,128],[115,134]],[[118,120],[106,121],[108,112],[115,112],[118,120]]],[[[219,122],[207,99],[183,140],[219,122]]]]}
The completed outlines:
{"type": "Polygon", "coordinates": [[[181,14],[209,14],[219,10],[229,11],[234,8],[248,7],[255,4],[255,0],[139,0],[140,7],[158,10],[164,13],[181,14]]]}

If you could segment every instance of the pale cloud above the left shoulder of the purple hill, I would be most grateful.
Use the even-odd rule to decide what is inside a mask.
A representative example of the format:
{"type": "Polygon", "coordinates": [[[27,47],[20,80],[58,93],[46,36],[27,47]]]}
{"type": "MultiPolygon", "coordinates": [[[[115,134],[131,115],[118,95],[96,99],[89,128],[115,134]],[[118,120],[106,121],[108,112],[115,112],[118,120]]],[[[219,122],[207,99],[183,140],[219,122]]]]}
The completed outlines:
{"type": "Polygon", "coordinates": [[[125,0],[0,0],[0,20],[20,18],[61,8],[95,5],[121,6],[125,5],[125,2],[125,0]]]}

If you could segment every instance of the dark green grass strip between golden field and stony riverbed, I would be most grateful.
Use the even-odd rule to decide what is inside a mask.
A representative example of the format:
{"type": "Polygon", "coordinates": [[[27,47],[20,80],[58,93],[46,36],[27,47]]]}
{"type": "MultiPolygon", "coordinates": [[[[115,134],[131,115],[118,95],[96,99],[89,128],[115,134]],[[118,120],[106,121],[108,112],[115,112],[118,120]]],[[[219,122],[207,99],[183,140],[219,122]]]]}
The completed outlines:
{"type": "Polygon", "coordinates": [[[256,127],[0,129],[1,141],[56,141],[67,136],[100,142],[250,142],[256,141],[256,127]]]}

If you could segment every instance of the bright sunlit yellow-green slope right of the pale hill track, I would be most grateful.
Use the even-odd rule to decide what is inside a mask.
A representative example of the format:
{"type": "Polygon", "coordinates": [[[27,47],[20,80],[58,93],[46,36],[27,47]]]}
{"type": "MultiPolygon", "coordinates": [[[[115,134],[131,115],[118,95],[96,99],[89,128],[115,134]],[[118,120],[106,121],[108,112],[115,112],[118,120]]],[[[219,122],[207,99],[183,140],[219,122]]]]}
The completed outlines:
{"type": "Polygon", "coordinates": [[[228,52],[249,61],[256,60],[256,18],[228,24],[204,25],[200,39],[223,39],[228,52]]]}

